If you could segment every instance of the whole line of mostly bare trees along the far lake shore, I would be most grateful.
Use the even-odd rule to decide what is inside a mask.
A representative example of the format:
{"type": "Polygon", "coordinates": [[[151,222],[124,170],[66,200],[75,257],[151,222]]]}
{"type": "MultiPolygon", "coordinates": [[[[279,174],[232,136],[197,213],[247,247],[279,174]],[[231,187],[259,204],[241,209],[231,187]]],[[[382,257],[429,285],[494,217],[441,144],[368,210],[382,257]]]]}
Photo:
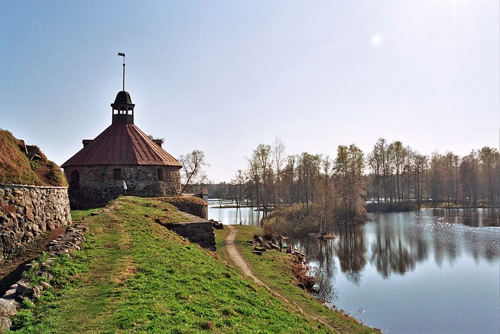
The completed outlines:
{"type": "MultiPolygon", "coordinates": [[[[380,138],[365,156],[354,144],[324,154],[287,155],[280,139],[259,144],[246,157],[247,168],[217,186],[217,197],[264,212],[299,203],[317,211],[321,221],[360,221],[365,205],[498,205],[500,154],[483,147],[460,157],[452,152],[430,156],[380,138]]],[[[213,185],[214,186],[214,185],[213,185]]]]}

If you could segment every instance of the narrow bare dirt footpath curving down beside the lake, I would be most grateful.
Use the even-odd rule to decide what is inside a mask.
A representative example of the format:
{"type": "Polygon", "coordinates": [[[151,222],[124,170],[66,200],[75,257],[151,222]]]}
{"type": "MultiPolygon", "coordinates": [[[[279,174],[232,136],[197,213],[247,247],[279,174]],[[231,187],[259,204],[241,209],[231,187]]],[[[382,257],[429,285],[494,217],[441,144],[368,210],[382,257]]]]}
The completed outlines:
{"type": "Polygon", "coordinates": [[[246,276],[248,276],[251,279],[253,279],[253,281],[255,283],[257,283],[257,284],[265,287],[267,289],[267,291],[269,291],[272,295],[280,298],[281,300],[285,301],[289,305],[293,305],[300,313],[306,314],[306,315],[310,316],[311,318],[313,318],[317,322],[321,323],[322,325],[328,327],[329,329],[333,330],[334,332],[338,331],[337,328],[333,328],[332,326],[330,326],[325,321],[323,321],[321,319],[318,319],[317,317],[312,316],[312,315],[304,312],[304,310],[302,309],[302,307],[300,307],[296,303],[294,303],[294,302],[286,299],[286,297],[284,297],[282,294],[280,294],[280,293],[276,292],[275,290],[271,289],[267,284],[265,284],[260,279],[258,279],[257,276],[255,276],[253,274],[253,272],[251,272],[250,268],[248,267],[248,264],[246,264],[245,260],[241,257],[241,255],[239,254],[238,250],[236,249],[236,245],[234,243],[234,240],[236,239],[236,234],[238,233],[238,229],[235,228],[234,226],[231,226],[231,225],[224,225],[224,226],[228,227],[229,231],[230,231],[229,234],[227,234],[227,237],[225,238],[225,245],[226,245],[227,253],[229,254],[229,257],[234,262],[234,264],[236,266],[238,266],[241,269],[241,271],[243,271],[243,273],[246,276]]]}

